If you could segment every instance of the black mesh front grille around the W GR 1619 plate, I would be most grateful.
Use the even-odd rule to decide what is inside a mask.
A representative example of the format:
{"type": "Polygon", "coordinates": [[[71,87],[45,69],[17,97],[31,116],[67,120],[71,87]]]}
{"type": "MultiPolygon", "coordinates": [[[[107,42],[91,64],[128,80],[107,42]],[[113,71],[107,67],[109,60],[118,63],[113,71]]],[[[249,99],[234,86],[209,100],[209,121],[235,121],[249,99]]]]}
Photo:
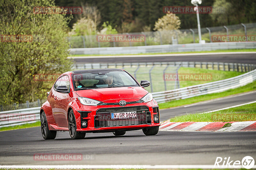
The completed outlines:
{"type": "Polygon", "coordinates": [[[120,107],[120,108],[106,108],[99,109],[96,115],[99,115],[99,127],[114,127],[114,126],[129,126],[147,124],[147,106],[132,106],[132,107],[120,107]],[[136,111],[137,117],[125,118],[125,119],[111,119],[110,113],[123,112],[123,111],[136,111]],[[144,111],[142,113],[142,111],[144,111]]]}

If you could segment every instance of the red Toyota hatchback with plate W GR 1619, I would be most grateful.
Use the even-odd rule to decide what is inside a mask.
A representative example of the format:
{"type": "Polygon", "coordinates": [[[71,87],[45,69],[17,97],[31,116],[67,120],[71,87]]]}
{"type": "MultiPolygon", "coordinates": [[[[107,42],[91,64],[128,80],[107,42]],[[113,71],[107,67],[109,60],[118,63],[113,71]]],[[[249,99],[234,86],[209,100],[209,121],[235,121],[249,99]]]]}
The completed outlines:
{"type": "Polygon", "coordinates": [[[89,69],[60,75],[40,110],[44,139],[54,139],[57,131],[69,131],[72,139],[88,132],[113,132],[142,129],[145,135],[159,130],[159,109],[152,94],[140,81],[123,69],[89,69]]]}

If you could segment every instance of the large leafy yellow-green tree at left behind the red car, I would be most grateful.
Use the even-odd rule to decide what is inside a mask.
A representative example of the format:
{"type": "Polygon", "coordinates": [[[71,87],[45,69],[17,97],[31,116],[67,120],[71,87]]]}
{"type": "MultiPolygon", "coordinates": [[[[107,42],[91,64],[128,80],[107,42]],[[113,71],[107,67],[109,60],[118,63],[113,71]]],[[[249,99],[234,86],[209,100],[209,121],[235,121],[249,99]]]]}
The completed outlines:
{"type": "Polygon", "coordinates": [[[71,66],[64,14],[36,14],[33,7],[54,6],[53,0],[1,0],[0,104],[45,99],[52,83],[34,81],[35,74],[60,74],[71,66]],[[9,37],[29,35],[28,41],[9,37]]]}

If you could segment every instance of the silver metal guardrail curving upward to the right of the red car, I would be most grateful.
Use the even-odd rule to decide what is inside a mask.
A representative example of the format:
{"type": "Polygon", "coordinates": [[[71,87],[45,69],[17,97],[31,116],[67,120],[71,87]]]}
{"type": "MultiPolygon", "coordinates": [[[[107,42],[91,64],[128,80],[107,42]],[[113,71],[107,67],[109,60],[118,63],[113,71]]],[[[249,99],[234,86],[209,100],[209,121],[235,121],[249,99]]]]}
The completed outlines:
{"type": "Polygon", "coordinates": [[[249,84],[254,80],[256,80],[256,69],[228,79],[184,87],[180,89],[154,92],[152,95],[158,103],[164,103],[171,100],[186,99],[194,96],[219,93],[228,89],[235,89],[249,84]]]}

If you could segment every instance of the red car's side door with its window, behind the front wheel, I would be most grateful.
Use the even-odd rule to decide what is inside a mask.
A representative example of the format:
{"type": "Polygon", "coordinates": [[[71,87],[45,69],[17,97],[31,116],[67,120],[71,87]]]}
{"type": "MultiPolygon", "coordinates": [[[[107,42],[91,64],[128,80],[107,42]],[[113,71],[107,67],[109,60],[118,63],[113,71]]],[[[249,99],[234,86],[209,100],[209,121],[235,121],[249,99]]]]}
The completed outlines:
{"type": "MultiPolygon", "coordinates": [[[[61,77],[59,86],[67,86],[68,90],[70,90],[69,78],[67,75],[61,77]]],[[[54,87],[55,88],[55,87],[54,87]]],[[[52,112],[54,119],[58,126],[68,127],[68,119],[67,119],[67,104],[69,99],[68,93],[62,93],[56,91],[54,89],[54,104],[52,105],[52,112]]]]}

